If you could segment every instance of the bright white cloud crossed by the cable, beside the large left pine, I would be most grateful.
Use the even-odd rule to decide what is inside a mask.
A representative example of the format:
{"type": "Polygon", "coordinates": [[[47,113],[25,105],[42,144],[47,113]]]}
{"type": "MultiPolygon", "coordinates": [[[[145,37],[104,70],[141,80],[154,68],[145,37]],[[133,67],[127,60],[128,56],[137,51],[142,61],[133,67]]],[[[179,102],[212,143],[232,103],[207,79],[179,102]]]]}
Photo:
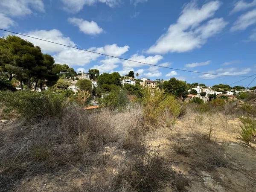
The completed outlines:
{"type": "MultiPolygon", "coordinates": [[[[58,29],[52,29],[52,30],[36,30],[36,31],[30,31],[27,33],[24,33],[24,35],[29,35],[35,38],[42,38],[47,41],[54,41],[59,44],[64,44],[68,46],[76,46],[76,44],[70,40],[69,37],[65,37],[58,29]]],[[[27,41],[30,41],[31,43],[38,45],[41,47],[43,52],[59,52],[65,47],[57,44],[52,44],[46,41],[37,40],[34,38],[24,37],[22,35],[18,35],[20,38],[26,39],[27,41]]]]}

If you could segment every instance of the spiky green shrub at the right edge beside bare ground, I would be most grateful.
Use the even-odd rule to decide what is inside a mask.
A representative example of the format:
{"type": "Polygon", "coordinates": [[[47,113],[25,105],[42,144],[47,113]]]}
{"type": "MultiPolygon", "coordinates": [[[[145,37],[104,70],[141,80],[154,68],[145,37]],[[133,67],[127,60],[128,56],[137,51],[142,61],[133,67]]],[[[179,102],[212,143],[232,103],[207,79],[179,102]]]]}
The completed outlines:
{"type": "Polygon", "coordinates": [[[241,125],[240,137],[244,143],[256,143],[256,120],[249,117],[240,118],[243,125],[241,125]]]}

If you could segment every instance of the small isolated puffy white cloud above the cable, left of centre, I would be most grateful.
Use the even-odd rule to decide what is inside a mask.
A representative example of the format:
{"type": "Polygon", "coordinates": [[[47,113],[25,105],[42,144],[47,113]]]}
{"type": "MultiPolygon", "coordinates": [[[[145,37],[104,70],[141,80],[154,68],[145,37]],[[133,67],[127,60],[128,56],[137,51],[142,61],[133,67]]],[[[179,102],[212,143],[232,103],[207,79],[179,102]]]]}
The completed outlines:
{"type": "Polygon", "coordinates": [[[103,29],[96,22],[79,19],[76,17],[68,18],[68,21],[74,26],[79,27],[80,31],[88,35],[97,35],[103,32],[103,29]]]}

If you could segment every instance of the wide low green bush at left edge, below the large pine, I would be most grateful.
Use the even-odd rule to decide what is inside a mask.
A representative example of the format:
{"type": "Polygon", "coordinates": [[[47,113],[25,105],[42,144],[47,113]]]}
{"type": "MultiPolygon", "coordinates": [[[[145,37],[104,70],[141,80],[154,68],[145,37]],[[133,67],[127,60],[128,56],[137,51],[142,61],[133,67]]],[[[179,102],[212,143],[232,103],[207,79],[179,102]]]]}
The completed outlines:
{"type": "Polygon", "coordinates": [[[16,111],[24,119],[58,115],[66,102],[62,94],[52,91],[0,91],[0,102],[6,111],[16,111]]]}

